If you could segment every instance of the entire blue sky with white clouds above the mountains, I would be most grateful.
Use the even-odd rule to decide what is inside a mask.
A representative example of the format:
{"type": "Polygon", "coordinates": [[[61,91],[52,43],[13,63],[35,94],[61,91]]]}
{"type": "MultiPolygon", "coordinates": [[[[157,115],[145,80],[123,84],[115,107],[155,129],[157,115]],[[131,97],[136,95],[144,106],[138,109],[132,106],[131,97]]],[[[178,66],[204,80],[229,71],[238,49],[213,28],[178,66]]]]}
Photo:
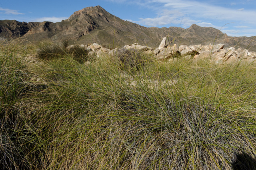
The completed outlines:
{"type": "Polygon", "coordinates": [[[2,0],[0,20],[60,22],[75,11],[97,5],[146,27],[197,24],[221,29],[228,36],[256,36],[255,0],[2,0]]]}

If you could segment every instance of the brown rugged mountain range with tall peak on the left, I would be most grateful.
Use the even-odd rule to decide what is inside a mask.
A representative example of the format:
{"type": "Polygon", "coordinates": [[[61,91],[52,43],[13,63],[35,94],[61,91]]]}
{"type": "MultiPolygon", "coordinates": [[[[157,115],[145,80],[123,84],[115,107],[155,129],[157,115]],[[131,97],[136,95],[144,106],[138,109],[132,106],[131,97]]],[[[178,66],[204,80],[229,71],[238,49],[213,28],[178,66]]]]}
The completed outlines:
{"type": "Polygon", "coordinates": [[[223,43],[226,46],[238,46],[256,51],[256,36],[230,37],[215,28],[200,27],[196,24],[187,29],[178,27],[147,28],[121,20],[100,6],[76,11],[67,20],[56,23],[0,21],[0,40],[19,38],[32,43],[68,40],[70,44],[96,42],[106,47],[120,47],[137,42],[140,45],[154,48],[158,47],[165,36],[168,36],[170,44],[223,43]]]}

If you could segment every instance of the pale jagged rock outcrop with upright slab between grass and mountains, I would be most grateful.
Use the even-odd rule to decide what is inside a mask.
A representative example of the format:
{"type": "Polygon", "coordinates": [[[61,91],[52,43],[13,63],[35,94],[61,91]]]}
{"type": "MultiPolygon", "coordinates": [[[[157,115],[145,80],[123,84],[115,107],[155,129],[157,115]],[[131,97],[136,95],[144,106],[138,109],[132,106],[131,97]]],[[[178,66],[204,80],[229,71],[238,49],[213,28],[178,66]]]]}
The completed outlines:
{"type": "MultiPolygon", "coordinates": [[[[188,59],[199,60],[208,59],[210,63],[221,64],[221,63],[234,63],[236,61],[250,61],[256,60],[256,52],[248,51],[248,49],[235,49],[234,47],[224,48],[224,44],[216,45],[180,45],[179,47],[174,44],[172,46],[165,45],[166,38],[163,38],[162,43],[155,50],[134,43],[132,45],[124,45],[124,49],[128,50],[139,50],[143,53],[151,53],[158,61],[177,61],[179,57],[186,57],[188,59]]],[[[95,55],[98,58],[113,56],[119,50],[119,48],[108,49],[104,48],[97,43],[92,45],[80,45],[81,47],[89,50],[89,55],[95,55]]]]}

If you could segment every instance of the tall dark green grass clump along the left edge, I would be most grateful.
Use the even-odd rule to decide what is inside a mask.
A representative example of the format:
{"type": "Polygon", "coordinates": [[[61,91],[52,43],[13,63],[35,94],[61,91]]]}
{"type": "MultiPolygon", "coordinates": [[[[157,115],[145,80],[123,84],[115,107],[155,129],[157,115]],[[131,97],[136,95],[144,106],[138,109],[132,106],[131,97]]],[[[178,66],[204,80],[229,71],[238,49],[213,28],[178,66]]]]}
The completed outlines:
{"type": "Polygon", "coordinates": [[[17,47],[0,47],[0,169],[26,169],[23,121],[15,105],[27,87],[24,60],[17,47]]]}

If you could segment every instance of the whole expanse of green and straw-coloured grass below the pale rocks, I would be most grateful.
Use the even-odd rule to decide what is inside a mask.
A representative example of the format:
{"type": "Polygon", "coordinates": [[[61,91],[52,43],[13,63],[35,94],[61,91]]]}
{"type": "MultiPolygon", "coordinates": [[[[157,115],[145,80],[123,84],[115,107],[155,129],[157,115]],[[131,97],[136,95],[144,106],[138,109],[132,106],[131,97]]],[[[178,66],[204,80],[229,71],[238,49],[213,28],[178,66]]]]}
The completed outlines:
{"type": "Polygon", "coordinates": [[[37,48],[0,46],[1,169],[255,169],[254,63],[37,48]]]}

